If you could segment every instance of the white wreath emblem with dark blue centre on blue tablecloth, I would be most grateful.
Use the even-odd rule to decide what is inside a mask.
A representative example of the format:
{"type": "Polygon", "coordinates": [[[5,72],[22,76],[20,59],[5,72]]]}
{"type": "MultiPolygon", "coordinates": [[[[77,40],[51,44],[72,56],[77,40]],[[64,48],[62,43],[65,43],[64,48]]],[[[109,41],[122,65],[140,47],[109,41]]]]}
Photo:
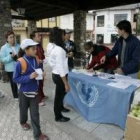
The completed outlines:
{"type": "Polygon", "coordinates": [[[91,84],[82,82],[77,82],[75,87],[81,102],[88,107],[93,107],[99,97],[98,89],[91,84]]]}

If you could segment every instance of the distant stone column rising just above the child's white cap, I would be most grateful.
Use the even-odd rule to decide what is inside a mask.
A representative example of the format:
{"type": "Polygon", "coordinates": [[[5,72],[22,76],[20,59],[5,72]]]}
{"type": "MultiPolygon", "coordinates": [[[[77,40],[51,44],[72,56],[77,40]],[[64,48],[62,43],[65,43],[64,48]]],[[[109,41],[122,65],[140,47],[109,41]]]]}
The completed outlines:
{"type": "Polygon", "coordinates": [[[28,20],[28,37],[33,31],[37,31],[36,21],[35,20],[28,20]]]}

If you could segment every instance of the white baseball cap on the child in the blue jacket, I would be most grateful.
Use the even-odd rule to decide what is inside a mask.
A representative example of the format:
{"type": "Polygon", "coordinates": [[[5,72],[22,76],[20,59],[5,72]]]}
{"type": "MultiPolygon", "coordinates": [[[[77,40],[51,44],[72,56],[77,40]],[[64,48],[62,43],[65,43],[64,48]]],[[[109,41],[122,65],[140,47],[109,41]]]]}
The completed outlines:
{"type": "Polygon", "coordinates": [[[24,39],[21,44],[20,44],[20,48],[22,50],[26,49],[28,46],[36,46],[39,43],[33,41],[32,39],[24,39]]]}

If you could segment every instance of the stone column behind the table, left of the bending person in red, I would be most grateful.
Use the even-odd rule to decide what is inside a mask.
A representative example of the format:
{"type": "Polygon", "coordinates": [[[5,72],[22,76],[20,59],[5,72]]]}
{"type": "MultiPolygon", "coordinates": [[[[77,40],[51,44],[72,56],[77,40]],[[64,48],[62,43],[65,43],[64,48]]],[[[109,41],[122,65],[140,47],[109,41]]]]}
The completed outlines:
{"type": "MultiPolygon", "coordinates": [[[[74,42],[78,51],[76,58],[81,59],[86,42],[86,11],[74,12],[74,42]]],[[[75,63],[75,65],[79,64],[75,63]]]]}

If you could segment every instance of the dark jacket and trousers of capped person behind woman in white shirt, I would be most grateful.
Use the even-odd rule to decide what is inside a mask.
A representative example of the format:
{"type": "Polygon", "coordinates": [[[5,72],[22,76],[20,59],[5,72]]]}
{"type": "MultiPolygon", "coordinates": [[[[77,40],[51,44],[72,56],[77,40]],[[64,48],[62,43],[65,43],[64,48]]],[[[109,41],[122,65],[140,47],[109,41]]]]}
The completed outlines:
{"type": "MultiPolygon", "coordinates": [[[[73,55],[75,57],[76,53],[77,53],[76,46],[75,46],[73,41],[69,40],[69,42],[70,42],[70,46],[72,46],[72,49],[71,50],[67,50],[66,44],[64,44],[65,50],[66,50],[67,53],[73,52],[73,55]]],[[[73,58],[68,58],[68,66],[69,66],[69,68],[74,68],[73,58]]]]}

